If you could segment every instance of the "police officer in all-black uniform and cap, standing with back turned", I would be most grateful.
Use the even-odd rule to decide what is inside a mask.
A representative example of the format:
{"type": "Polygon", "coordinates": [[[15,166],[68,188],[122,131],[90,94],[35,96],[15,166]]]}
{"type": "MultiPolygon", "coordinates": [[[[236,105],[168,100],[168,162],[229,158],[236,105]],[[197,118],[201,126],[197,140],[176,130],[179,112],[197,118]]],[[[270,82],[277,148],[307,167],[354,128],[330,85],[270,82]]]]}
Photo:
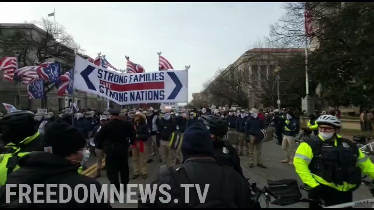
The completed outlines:
{"type": "Polygon", "coordinates": [[[127,121],[119,119],[119,109],[109,109],[110,122],[101,127],[95,136],[95,146],[97,149],[105,148],[105,164],[107,176],[111,184],[120,190],[119,173],[121,183],[126,186],[129,182],[129,139],[134,142],[135,130],[127,121]]]}

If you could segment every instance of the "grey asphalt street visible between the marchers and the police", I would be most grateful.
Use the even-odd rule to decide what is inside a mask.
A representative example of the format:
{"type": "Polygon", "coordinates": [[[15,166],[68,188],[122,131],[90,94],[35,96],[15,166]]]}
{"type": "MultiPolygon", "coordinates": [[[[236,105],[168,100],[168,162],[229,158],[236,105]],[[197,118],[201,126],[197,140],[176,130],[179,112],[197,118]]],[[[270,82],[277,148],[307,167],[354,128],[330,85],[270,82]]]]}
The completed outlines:
{"type": "MultiPolygon", "coordinates": [[[[299,185],[302,185],[302,182],[298,175],[295,172],[294,166],[289,166],[288,164],[281,163],[281,160],[284,158],[284,153],[282,150],[281,145],[277,145],[275,143],[275,140],[264,142],[262,146],[262,162],[267,166],[267,169],[262,169],[260,167],[257,167],[256,164],[253,168],[248,167],[249,158],[248,157],[240,157],[241,166],[243,169],[243,173],[246,177],[250,179],[250,182],[256,182],[257,186],[262,188],[266,185],[267,180],[280,180],[280,179],[296,179],[299,183],[299,185]]],[[[151,181],[154,179],[154,177],[157,175],[160,162],[158,161],[157,157],[153,158],[154,161],[150,164],[147,164],[148,168],[148,177],[147,179],[143,180],[141,177],[138,177],[137,179],[130,180],[130,184],[146,184],[151,183],[151,181]],[[157,161],[156,161],[157,159],[157,161]]],[[[130,177],[133,176],[132,174],[132,160],[129,158],[129,167],[130,167],[130,177]]],[[[104,170],[102,173],[102,177],[98,178],[97,180],[101,184],[110,184],[107,177],[106,177],[106,171],[104,170]]],[[[132,191],[135,191],[135,189],[132,189],[132,191]]],[[[301,190],[301,193],[304,197],[307,196],[307,193],[305,191],[301,190]]],[[[131,199],[136,199],[136,195],[132,195],[131,199]]],[[[364,185],[362,185],[359,189],[357,189],[355,192],[353,192],[353,200],[361,200],[361,199],[367,199],[371,198],[371,194],[368,190],[368,188],[364,185]]],[[[264,199],[261,198],[260,200],[261,207],[265,207],[264,199]]],[[[132,207],[136,208],[138,206],[137,203],[119,203],[118,201],[111,204],[112,207],[132,207]]],[[[307,208],[308,204],[306,203],[297,203],[292,204],[289,206],[276,206],[270,204],[269,207],[273,208],[307,208]]]]}

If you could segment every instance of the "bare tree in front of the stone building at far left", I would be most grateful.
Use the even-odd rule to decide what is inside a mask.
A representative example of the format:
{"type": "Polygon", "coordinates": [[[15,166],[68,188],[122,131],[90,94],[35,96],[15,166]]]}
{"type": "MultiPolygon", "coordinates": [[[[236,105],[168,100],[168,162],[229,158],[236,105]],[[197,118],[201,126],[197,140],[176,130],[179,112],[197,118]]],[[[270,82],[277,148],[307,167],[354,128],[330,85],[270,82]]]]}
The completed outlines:
{"type": "Polygon", "coordinates": [[[82,48],[65,28],[48,19],[31,22],[39,27],[25,27],[4,35],[0,52],[2,55],[19,53],[22,66],[37,65],[50,58],[74,62],[74,52],[82,48]]]}

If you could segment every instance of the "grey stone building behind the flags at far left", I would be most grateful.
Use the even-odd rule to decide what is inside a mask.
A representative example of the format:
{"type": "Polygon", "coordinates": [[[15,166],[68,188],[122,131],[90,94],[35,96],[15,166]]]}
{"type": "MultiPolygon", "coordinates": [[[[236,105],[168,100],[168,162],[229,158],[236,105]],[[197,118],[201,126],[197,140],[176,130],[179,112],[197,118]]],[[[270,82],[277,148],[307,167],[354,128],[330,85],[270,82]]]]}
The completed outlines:
{"type": "MultiPolygon", "coordinates": [[[[18,40],[14,44],[14,50],[7,46],[5,50],[4,43],[12,43],[10,37],[13,37],[19,32],[30,33],[36,41],[42,41],[46,37],[47,33],[45,30],[37,27],[34,24],[0,24],[0,57],[3,56],[14,56],[12,53],[17,53],[18,49],[22,49],[22,42],[18,40]]],[[[64,47],[64,56],[57,58],[52,57],[46,59],[45,62],[59,62],[61,64],[61,74],[69,71],[73,68],[74,63],[74,50],[61,44],[56,44],[55,47],[64,47]]],[[[30,49],[27,51],[27,58],[30,63],[37,64],[40,61],[37,60],[36,50],[30,49]]],[[[86,55],[81,55],[84,58],[89,58],[86,55]]],[[[18,66],[21,68],[27,64],[24,64],[24,59],[19,59],[18,66]]],[[[26,86],[22,83],[16,84],[14,81],[7,81],[3,78],[3,71],[0,73],[0,104],[9,103],[14,105],[18,109],[29,109],[36,110],[37,108],[48,108],[52,111],[58,112],[62,109],[70,106],[73,102],[72,95],[65,95],[63,97],[56,95],[57,88],[53,87],[48,93],[46,93],[45,99],[29,99],[26,91],[26,86]]],[[[74,91],[74,102],[80,109],[105,109],[107,106],[107,100],[86,92],[74,91]]],[[[0,111],[5,111],[3,106],[0,106],[0,111]]]]}

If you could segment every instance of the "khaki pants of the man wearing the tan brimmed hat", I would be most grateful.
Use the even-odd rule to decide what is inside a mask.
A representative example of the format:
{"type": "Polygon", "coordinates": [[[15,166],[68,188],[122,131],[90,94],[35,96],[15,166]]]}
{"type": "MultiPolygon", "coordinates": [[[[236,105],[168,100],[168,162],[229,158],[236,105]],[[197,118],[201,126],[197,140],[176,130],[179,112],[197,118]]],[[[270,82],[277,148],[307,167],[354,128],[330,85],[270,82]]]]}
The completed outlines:
{"type": "Polygon", "coordinates": [[[134,166],[134,175],[139,175],[139,167],[142,175],[147,174],[147,148],[144,142],[144,151],[140,152],[140,141],[135,141],[132,145],[132,165],[134,166]],[[135,147],[134,147],[135,146],[135,147]]]}

